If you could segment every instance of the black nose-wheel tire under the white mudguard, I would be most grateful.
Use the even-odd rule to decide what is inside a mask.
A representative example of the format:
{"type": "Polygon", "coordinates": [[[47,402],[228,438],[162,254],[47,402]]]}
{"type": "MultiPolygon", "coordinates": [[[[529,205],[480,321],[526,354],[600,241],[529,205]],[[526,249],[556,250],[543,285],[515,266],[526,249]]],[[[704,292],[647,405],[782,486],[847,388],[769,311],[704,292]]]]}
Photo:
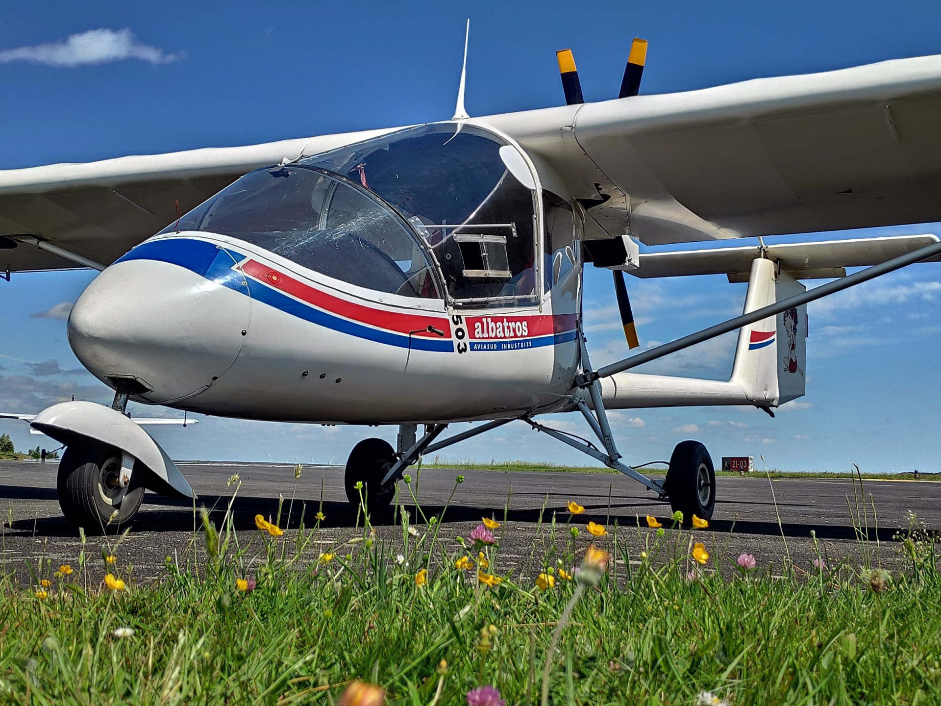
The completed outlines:
{"type": "Polygon", "coordinates": [[[56,481],[59,507],[66,520],[88,535],[127,529],[144,499],[141,470],[132,473],[126,489],[117,485],[120,461],[120,449],[104,444],[73,444],[62,454],[56,481]]]}

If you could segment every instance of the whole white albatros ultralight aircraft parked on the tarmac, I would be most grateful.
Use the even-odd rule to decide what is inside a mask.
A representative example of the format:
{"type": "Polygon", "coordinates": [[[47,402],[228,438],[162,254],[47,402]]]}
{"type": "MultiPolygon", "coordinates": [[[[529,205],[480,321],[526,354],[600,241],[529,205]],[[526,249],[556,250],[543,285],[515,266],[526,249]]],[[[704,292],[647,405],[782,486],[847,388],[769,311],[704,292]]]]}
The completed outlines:
{"type": "MultiPolygon", "coordinates": [[[[606,410],[773,409],[805,393],[806,303],[937,258],[934,235],[640,252],[782,233],[941,220],[941,56],[637,95],[634,40],[616,100],[249,147],[0,171],[0,267],[101,274],[75,302],[75,355],[110,408],[24,418],[67,446],[58,499],[87,530],[130,521],[144,489],[193,496],[129,399],[243,419],[399,425],[346,464],[378,512],[423,453],[512,420],[630,475],[689,520],[712,461],[682,441],[665,479],[621,460],[606,410]],[[167,225],[169,223],[169,225],[167,225]],[[152,233],[156,233],[153,235],[152,233]],[[582,268],[725,273],[744,313],[595,369],[582,268]],[[846,276],[849,266],[870,265],[846,276]],[[832,281],[806,291],[801,280],[832,281]],[[728,381],[628,372],[741,329],[728,381]],[[582,414],[596,441],[536,421],[582,414]],[[439,440],[447,425],[485,421],[439,440]],[[418,434],[419,425],[424,425],[418,434]]],[[[465,66],[467,45],[465,43],[465,66]]]]}

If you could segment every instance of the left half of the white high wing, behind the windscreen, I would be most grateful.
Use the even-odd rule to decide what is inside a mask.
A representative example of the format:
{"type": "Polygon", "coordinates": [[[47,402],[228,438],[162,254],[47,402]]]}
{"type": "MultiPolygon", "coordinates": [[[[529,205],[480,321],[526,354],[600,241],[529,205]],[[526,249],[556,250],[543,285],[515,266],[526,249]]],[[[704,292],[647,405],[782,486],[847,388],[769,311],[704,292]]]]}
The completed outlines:
{"type": "Polygon", "coordinates": [[[0,269],[81,266],[40,249],[33,244],[37,238],[92,263],[110,265],[172,223],[177,202],[184,214],[252,169],[386,132],[0,170],[0,269]]]}

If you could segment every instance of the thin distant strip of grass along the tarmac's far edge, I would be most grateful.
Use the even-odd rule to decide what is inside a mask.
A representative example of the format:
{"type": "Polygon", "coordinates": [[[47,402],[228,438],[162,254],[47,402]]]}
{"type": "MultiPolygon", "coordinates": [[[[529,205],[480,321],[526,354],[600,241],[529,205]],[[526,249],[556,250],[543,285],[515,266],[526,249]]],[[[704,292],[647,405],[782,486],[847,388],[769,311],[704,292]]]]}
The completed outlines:
{"type": "MultiPolygon", "coordinates": [[[[455,471],[541,471],[544,473],[620,473],[606,466],[566,466],[559,463],[540,463],[533,461],[484,461],[460,460],[436,456],[430,462],[423,463],[423,468],[453,469],[455,471]]],[[[637,470],[648,475],[662,475],[666,473],[665,466],[638,466],[637,470]]],[[[770,475],[772,478],[854,478],[854,472],[831,473],[827,471],[782,471],[780,469],[756,469],[750,476],[762,478],[770,475]]],[[[716,471],[720,477],[741,477],[742,473],[731,471],[716,471]]],[[[867,480],[912,480],[913,473],[862,473],[867,480]]],[[[919,473],[919,480],[941,480],[941,473],[919,473]]]]}

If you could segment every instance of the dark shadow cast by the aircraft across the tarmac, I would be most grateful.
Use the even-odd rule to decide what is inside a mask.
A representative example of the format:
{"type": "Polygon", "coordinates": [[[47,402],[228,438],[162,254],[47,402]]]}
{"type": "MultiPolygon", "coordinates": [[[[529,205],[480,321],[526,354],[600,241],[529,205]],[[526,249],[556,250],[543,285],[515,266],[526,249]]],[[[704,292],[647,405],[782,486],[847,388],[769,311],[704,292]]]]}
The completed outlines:
{"type": "MultiPolygon", "coordinates": [[[[0,499],[5,500],[44,500],[55,501],[56,490],[45,488],[19,488],[14,486],[0,486],[0,499]]],[[[210,510],[210,517],[219,525],[225,515],[226,507],[229,504],[229,496],[203,495],[199,498],[199,505],[205,505],[210,510]]],[[[649,505],[644,503],[619,503],[611,505],[611,515],[608,515],[607,497],[605,502],[594,507],[588,505],[583,515],[579,516],[579,522],[614,522],[615,520],[622,526],[633,526],[636,521],[633,513],[623,513],[620,510],[634,505],[649,505]]],[[[237,531],[251,531],[255,529],[255,515],[261,514],[265,518],[277,517],[279,501],[272,498],[259,497],[239,497],[232,505],[233,525],[237,531]]],[[[759,503],[758,505],[764,505],[759,503]]],[[[404,505],[413,521],[423,521],[425,518],[441,517],[444,510],[442,505],[422,505],[421,513],[416,511],[413,505],[404,505]],[[417,519],[416,519],[417,518],[417,519]]],[[[667,512],[658,513],[658,515],[669,514],[668,505],[664,505],[667,512]]],[[[281,507],[280,525],[284,528],[297,528],[300,525],[302,516],[306,526],[311,527],[314,521],[314,515],[320,508],[318,500],[295,499],[291,506],[289,500],[285,500],[281,507]],[[288,517],[290,506],[290,518],[288,517]],[[289,522],[290,520],[290,522],[289,522]]],[[[357,523],[357,512],[347,503],[338,503],[334,501],[324,502],[323,512],[326,521],[323,525],[327,528],[354,527],[357,523]]],[[[550,521],[552,513],[556,512],[560,517],[566,518],[567,512],[563,505],[547,506],[533,509],[511,509],[506,514],[507,521],[517,522],[537,522],[540,515],[543,521],[550,521]]],[[[480,521],[481,517],[494,517],[500,521],[503,519],[503,507],[469,507],[451,505],[444,514],[444,521],[451,522],[475,522],[480,521]]],[[[393,523],[392,513],[381,521],[374,521],[377,525],[389,525],[393,523]]],[[[145,505],[137,514],[134,522],[134,531],[140,532],[192,532],[194,528],[194,516],[192,505],[185,501],[173,500],[160,495],[148,494],[145,498],[145,505]]],[[[199,522],[197,521],[197,526],[199,522]]],[[[37,537],[74,537],[76,530],[65,518],[60,516],[32,518],[14,521],[11,534],[33,535],[37,537]]],[[[857,539],[865,536],[869,540],[876,538],[879,541],[891,541],[898,533],[898,528],[880,527],[878,530],[869,528],[866,530],[857,530],[852,525],[842,524],[807,524],[804,522],[784,522],[778,526],[777,522],[765,521],[728,521],[713,520],[710,522],[710,530],[716,533],[728,533],[748,535],[768,535],[779,536],[784,534],[786,537],[810,537],[810,532],[816,531],[817,537],[821,539],[857,539]]]]}

